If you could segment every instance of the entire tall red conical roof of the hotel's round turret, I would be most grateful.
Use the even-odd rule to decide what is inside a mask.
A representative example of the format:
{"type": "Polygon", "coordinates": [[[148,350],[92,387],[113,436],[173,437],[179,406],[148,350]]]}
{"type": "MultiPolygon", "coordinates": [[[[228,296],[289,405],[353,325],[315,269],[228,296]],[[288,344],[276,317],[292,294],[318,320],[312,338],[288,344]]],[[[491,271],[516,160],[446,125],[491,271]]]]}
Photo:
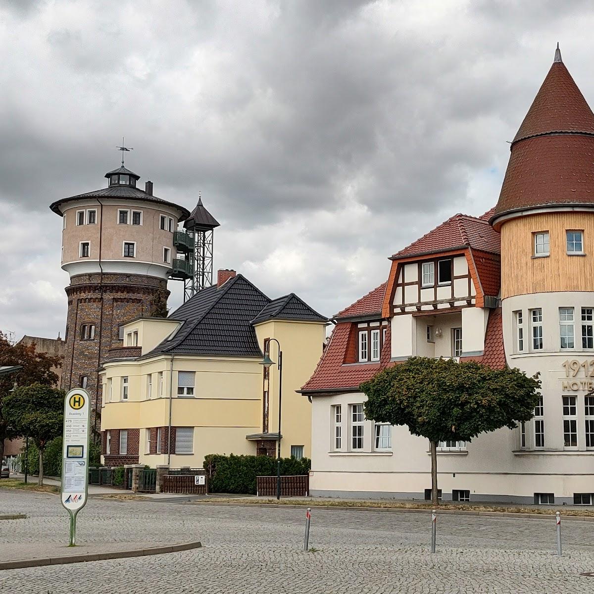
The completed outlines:
{"type": "Polygon", "coordinates": [[[516,137],[491,223],[514,211],[594,205],[594,113],[561,60],[549,70],[516,137]]]}

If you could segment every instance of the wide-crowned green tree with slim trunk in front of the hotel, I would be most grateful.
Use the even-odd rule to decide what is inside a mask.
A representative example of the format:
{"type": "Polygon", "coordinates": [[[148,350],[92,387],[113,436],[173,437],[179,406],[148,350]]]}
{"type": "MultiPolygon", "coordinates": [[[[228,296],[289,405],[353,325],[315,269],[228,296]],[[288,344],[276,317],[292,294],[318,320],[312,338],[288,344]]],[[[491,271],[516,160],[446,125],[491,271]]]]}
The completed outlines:
{"type": "Polygon", "coordinates": [[[437,444],[470,442],[502,427],[529,421],[538,402],[538,374],[519,369],[492,369],[475,362],[412,357],[380,371],[361,384],[368,400],[365,416],[391,425],[406,425],[431,446],[431,499],[437,498],[437,444]]]}

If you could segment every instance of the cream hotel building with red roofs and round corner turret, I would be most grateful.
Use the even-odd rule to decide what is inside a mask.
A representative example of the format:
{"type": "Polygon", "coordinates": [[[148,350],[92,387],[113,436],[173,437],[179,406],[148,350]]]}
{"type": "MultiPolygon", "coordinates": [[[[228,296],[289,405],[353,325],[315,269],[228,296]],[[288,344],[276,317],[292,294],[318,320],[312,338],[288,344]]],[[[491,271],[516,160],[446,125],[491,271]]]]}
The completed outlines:
{"type": "Polygon", "coordinates": [[[312,494],[425,498],[428,441],[365,419],[359,384],[410,356],[540,372],[532,421],[443,442],[443,499],[594,503],[594,114],[555,61],[511,144],[497,206],[394,254],[336,317],[312,399],[312,494]]]}

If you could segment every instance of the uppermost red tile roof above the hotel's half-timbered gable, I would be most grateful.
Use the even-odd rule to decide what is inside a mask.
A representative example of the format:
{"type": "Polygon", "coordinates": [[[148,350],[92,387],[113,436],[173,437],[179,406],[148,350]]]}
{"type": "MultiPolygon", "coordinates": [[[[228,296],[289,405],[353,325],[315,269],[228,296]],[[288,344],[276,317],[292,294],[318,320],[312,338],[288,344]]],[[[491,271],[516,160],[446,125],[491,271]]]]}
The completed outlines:
{"type": "Polygon", "coordinates": [[[445,252],[450,249],[470,246],[485,252],[499,254],[501,251],[500,235],[485,219],[467,214],[454,214],[447,221],[426,233],[392,258],[445,252]]]}

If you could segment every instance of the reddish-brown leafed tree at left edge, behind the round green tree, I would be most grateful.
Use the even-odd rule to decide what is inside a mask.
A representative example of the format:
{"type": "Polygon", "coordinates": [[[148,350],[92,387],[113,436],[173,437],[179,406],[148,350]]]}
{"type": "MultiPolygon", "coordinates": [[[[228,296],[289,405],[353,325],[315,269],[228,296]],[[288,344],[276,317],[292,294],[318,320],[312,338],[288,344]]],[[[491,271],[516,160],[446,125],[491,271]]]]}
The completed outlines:
{"type": "Polygon", "coordinates": [[[19,386],[27,386],[39,382],[46,386],[55,385],[58,381],[52,368],[62,365],[62,359],[46,353],[38,353],[35,345],[13,345],[0,331],[0,365],[21,365],[15,374],[0,376],[0,460],[4,456],[4,440],[20,437],[8,426],[4,416],[4,399],[12,390],[15,381],[19,386]]]}

